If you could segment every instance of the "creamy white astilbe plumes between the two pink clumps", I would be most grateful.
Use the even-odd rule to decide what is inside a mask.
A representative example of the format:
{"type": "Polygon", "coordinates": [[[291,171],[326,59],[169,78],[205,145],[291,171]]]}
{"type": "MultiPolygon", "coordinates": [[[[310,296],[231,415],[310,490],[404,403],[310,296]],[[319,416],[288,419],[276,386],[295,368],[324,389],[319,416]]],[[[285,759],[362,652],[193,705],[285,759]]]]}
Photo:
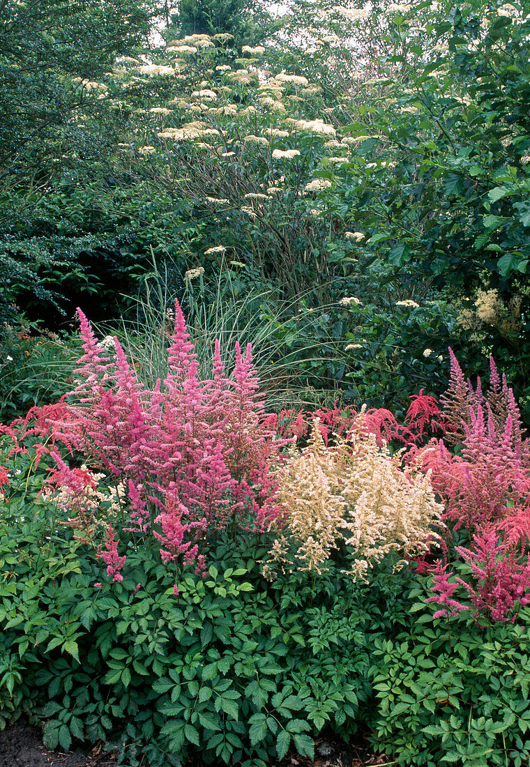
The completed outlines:
{"type": "Polygon", "coordinates": [[[437,537],[442,512],[428,473],[403,467],[399,453],[392,456],[358,424],[326,445],[318,420],[308,446],[292,446],[278,469],[277,497],[285,528],[271,551],[269,577],[276,567],[321,572],[344,546],[352,550],[344,569],[354,578],[366,578],[390,552],[404,564],[437,537]]]}

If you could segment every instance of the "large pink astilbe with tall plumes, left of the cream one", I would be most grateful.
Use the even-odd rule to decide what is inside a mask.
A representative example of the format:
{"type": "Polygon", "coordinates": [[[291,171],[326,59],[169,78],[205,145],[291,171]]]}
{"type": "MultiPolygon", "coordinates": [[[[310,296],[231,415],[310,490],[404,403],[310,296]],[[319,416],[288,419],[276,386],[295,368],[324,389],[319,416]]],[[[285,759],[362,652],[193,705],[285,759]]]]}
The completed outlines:
{"type": "MultiPolygon", "coordinates": [[[[75,492],[78,498],[93,495],[90,471],[104,472],[116,488],[121,529],[137,541],[152,532],[163,561],[177,568],[202,569],[209,542],[221,531],[235,537],[240,530],[268,528],[280,510],[272,466],[285,440],[264,422],[250,345],[242,354],[236,344],[229,376],[217,343],[212,378],[199,380],[176,302],[169,372],[150,390],[117,339],[107,352],[83,312],[78,314],[84,354],[75,370],[77,385],[46,423],[54,445],[81,454],[88,467],[88,473],[72,469],[57,449],[51,451],[56,468],[49,485],[63,503],[75,492]]],[[[72,503],[72,525],[90,526],[93,515],[83,518],[78,507],[72,503]]],[[[116,515],[112,525],[98,556],[109,559],[110,574],[120,580],[116,515]]]]}

